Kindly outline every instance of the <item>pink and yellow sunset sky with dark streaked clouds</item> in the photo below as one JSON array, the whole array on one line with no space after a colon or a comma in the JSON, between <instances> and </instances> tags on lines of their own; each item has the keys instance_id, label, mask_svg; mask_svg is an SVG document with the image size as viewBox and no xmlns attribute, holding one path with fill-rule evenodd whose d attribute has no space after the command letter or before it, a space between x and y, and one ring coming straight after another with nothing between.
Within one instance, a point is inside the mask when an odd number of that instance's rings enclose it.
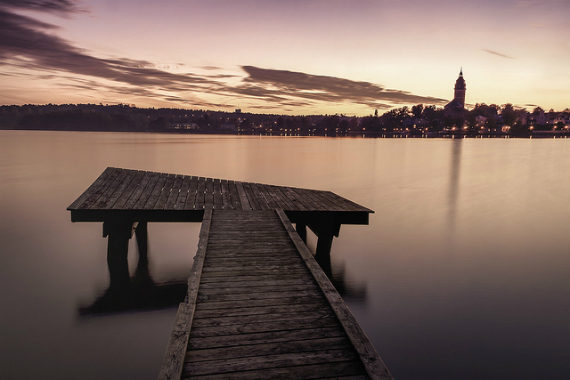
<instances>
[{"instance_id":1,"label":"pink and yellow sunset sky with dark streaked clouds","mask_svg":"<svg viewBox=\"0 0 570 380\"><path fill-rule=\"evenodd\" d=\"M570 1L0 0L0 104L570 107Z\"/></svg>"}]
</instances>

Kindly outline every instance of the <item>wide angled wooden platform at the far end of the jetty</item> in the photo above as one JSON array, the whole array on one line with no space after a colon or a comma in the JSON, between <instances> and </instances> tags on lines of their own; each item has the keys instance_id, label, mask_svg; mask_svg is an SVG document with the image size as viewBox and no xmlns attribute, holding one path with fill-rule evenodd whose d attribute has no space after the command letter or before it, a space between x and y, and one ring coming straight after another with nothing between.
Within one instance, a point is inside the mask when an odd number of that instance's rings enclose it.
<instances>
[{"instance_id":1,"label":"wide angled wooden platform at the far end of the jetty","mask_svg":"<svg viewBox=\"0 0 570 380\"><path fill-rule=\"evenodd\" d=\"M149 222L202 220L207 209L324 213L368 223L372 212L330 191L107 168L68 208L74 222L124 217Z\"/></svg>"}]
</instances>

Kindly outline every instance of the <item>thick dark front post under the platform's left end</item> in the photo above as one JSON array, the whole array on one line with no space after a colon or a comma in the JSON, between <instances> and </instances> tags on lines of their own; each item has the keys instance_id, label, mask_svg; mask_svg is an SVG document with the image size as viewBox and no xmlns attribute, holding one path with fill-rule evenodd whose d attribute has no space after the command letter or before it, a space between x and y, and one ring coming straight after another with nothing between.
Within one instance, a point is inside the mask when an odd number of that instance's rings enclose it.
<instances>
[{"instance_id":1,"label":"thick dark front post under the platform's left end","mask_svg":"<svg viewBox=\"0 0 570 380\"><path fill-rule=\"evenodd\" d=\"M136 224L135 224L136 226ZM133 234L133 222L108 220L103 222L103 237L107 242L107 265L109 267L110 290L126 289L129 285L129 239Z\"/></svg>"}]
</instances>

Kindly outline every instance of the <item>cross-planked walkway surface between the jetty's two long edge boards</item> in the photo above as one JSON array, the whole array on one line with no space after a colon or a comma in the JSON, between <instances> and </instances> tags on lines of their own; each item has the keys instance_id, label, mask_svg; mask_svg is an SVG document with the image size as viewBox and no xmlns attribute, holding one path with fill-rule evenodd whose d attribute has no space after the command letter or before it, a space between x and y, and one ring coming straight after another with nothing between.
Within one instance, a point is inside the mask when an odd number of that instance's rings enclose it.
<instances>
[{"instance_id":1,"label":"cross-planked walkway surface between the jetty's two long edge boards","mask_svg":"<svg viewBox=\"0 0 570 380\"><path fill-rule=\"evenodd\" d=\"M266 210L279 195L241 186L261 210L212 212L182 378L335 377L337 363L366 375L279 215Z\"/></svg>"}]
</instances>

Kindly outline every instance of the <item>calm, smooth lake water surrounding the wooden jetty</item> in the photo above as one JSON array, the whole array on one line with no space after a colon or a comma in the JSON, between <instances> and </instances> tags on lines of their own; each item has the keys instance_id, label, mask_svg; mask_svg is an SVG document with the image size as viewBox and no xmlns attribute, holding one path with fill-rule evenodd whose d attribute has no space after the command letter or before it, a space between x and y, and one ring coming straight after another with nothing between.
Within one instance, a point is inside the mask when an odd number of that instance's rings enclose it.
<instances>
[{"instance_id":1,"label":"calm, smooth lake water surrounding the wooden jetty","mask_svg":"<svg viewBox=\"0 0 570 380\"><path fill-rule=\"evenodd\" d=\"M108 286L106 239L65 209L107 166L331 190L375 210L342 226L333 274L398 379L570 378L568 140L0 131L2 379L158 373L174 307L80 313ZM198 230L149 225L155 282L185 281ZM134 241L129 258L134 271Z\"/></svg>"}]
</instances>

